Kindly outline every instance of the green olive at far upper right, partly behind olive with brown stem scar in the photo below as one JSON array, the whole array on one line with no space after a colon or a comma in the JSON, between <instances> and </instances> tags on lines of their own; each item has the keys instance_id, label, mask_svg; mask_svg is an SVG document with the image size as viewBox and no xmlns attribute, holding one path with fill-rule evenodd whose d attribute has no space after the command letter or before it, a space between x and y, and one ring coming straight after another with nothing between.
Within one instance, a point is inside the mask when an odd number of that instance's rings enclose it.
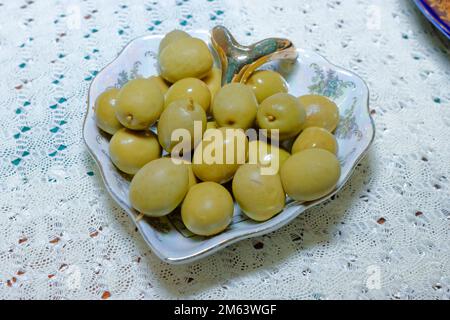
<instances>
[{"instance_id":1,"label":"green olive at far upper right, partly behind olive with brown stem scar","mask_svg":"<svg viewBox=\"0 0 450 320\"><path fill-rule=\"evenodd\" d=\"M306 95L298 98L306 111L303 129L320 127L333 132L339 123L339 109L333 101L324 96Z\"/></svg>"}]
</instances>

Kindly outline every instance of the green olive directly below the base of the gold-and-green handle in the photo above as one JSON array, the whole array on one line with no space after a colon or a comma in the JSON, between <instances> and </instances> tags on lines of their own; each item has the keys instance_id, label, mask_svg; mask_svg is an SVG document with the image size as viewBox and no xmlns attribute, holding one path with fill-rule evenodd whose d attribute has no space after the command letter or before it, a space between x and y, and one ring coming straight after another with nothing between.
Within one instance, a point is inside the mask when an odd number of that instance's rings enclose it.
<instances>
[{"instance_id":1,"label":"green olive directly below the base of the gold-and-green handle","mask_svg":"<svg viewBox=\"0 0 450 320\"><path fill-rule=\"evenodd\" d=\"M256 117L258 102L252 90L242 83L223 86L215 95L212 113L217 124L229 128L250 128Z\"/></svg>"}]
</instances>

